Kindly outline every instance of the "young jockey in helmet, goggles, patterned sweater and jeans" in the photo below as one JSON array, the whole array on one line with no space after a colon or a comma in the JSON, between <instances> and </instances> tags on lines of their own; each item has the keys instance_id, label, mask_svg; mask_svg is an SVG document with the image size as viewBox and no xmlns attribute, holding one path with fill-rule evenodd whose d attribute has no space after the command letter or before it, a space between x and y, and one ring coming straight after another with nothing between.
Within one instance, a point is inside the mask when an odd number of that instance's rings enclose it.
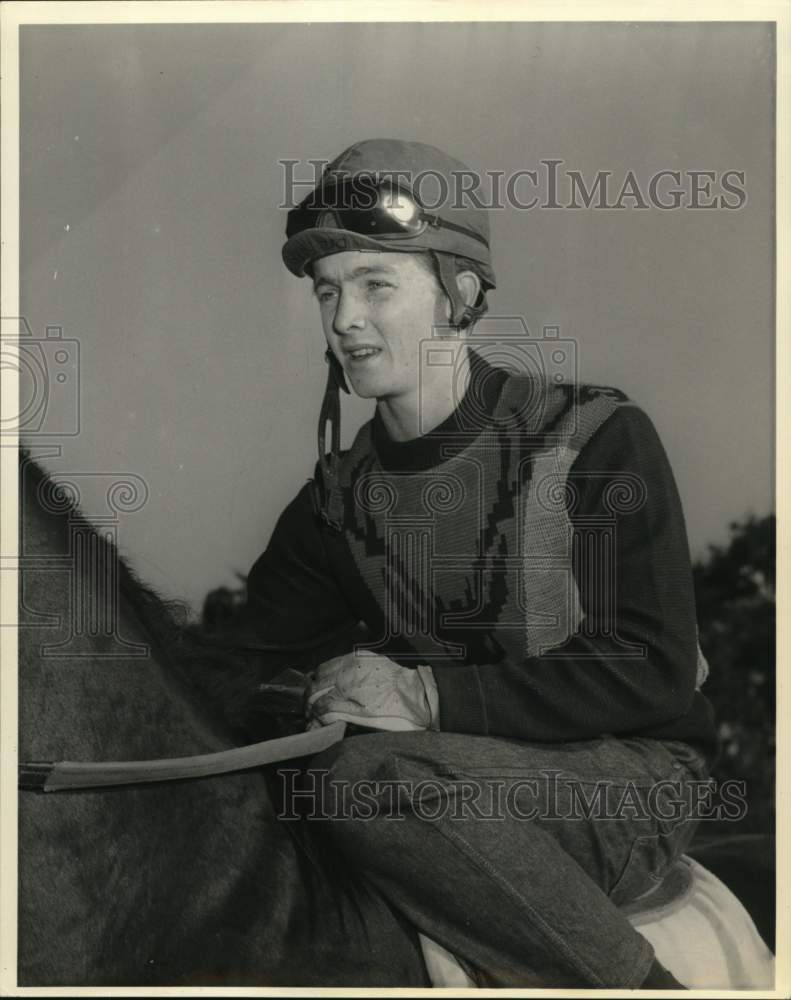
<instances>
[{"instance_id":1,"label":"young jockey in helmet, goggles, patterned sweater and jeans","mask_svg":"<svg viewBox=\"0 0 791 1000\"><path fill-rule=\"evenodd\" d=\"M715 753L680 500L648 417L560 341L476 333L470 174L368 140L289 213L328 383L248 608L270 643L364 624L310 676L308 724L356 727L311 761L320 829L479 985L681 988L621 909L688 846ZM376 410L341 453L350 388Z\"/></svg>"}]
</instances>

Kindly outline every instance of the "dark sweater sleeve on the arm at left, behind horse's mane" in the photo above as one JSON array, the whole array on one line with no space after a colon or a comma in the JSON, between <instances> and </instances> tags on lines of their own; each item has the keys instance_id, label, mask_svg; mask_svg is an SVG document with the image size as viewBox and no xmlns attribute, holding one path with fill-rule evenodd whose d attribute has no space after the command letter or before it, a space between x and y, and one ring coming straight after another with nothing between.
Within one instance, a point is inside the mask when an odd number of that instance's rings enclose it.
<instances>
[{"instance_id":1,"label":"dark sweater sleeve on the arm at left, behind horse's mane","mask_svg":"<svg viewBox=\"0 0 791 1000\"><path fill-rule=\"evenodd\" d=\"M357 622L327 559L310 490L306 483L280 515L247 578L248 628L261 644L295 652L331 642Z\"/></svg>"}]
</instances>

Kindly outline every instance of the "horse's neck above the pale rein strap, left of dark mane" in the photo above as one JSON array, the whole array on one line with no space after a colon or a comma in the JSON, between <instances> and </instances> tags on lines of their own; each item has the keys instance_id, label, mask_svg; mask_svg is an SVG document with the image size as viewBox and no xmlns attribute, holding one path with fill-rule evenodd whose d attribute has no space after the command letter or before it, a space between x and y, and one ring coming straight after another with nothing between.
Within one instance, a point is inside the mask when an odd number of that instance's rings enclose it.
<instances>
[{"instance_id":1,"label":"horse's neck above the pale rein strap, left of dark mane","mask_svg":"<svg viewBox=\"0 0 791 1000\"><path fill-rule=\"evenodd\" d=\"M42 510L23 471L22 757L130 760L227 746L143 620L150 609L161 632L164 606L142 587L135 593L115 547L75 512Z\"/></svg>"}]
</instances>

